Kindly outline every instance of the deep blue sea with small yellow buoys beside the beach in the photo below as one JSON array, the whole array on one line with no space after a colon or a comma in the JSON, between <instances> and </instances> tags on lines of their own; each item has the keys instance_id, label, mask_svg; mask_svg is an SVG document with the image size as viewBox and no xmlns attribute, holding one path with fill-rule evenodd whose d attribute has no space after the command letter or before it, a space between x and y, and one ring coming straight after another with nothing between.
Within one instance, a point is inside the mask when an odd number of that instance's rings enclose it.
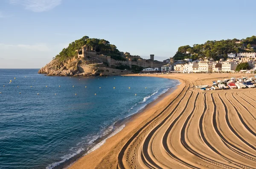
<instances>
[{"instance_id":1,"label":"deep blue sea with small yellow buoys beside the beach","mask_svg":"<svg viewBox=\"0 0 256 169\"><path fill-rule=\"evenodd\" d=\"M105 142L99 138L124 127L116 122L179 84L157 77L70 78L37 72L0 69L0 169L52 169L91 152Z\"/></svg>"}]
</instances>

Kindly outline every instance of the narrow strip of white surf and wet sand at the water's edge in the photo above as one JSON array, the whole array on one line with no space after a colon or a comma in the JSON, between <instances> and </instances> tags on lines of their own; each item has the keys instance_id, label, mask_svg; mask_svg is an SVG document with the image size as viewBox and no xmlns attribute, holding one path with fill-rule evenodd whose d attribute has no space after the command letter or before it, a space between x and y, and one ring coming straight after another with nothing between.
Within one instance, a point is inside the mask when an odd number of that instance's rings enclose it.
<instances>
[{"instance_id":1,"label":"narrow strip of white surf and wet sand at the water's edge","mask_svg":"<svg viewBox=\"0 0 256 169\"><path fill-rule=\"evenodd\" d=\"M128 74L128 76L132 76L132 75L134 75L134 74ZM169 79L169 78L167 78L167 79ZM180 84L181 84L180 81L177 80L176 86L170 87L166 92L158 95L154 100L152 100L151 102L146 104L145 107L139 109L134 114L128 115L127 117L120 119L120 120L116 121L115 123L113 123L113 129L111 131L108 131L107 134L104 135L103 137L97 138L94 141L95 144L93 144L93 146L90 146L90 148L88 150L82 150L77 155L74 155L72 158L70 158L62 163L59 163L57 166L52 167L52 169L63 169L63 168L68 169L70 166L72 166L74 163L76 163L80 158L83 158L84 156L96 151L97 149L100 149L109 138L114 137L117 133L121 132L126 127L126 125L128 123L130 123L132 120L136 119L137 115L143 113L145 109L149 109L148 107L153 107L154 105L159 103L161 100L163 100L167 95L172 94L172 92L174 92L175 89L177 89L177 86L179 86Z\"/></svg>"}]
</instances>

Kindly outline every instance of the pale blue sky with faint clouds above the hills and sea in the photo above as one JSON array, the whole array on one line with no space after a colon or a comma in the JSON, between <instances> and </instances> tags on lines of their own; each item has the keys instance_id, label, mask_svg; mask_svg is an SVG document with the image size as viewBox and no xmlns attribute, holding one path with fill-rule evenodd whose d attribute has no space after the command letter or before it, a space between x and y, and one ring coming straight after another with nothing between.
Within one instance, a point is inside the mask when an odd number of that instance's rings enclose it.
<instances>
[{"instance_id":1,"label":"pale blue sky with faint clouds above the hills and sea","mask_svg":"<svg viewBox=\"0 0 256 169\"><path fill-rule=\"evenodd\" d=\"M87 35L158 60L255 34L255 0L0 0L0 68L41 68Z\"/></svg>"}]
</instances>

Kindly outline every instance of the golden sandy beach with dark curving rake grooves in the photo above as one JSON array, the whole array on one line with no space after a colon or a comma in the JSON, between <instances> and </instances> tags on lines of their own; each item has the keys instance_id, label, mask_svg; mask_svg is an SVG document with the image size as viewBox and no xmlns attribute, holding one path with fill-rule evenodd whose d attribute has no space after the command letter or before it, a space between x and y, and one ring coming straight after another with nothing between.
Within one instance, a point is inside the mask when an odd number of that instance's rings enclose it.
<instances>
[{"instance_id":1,"label":"golden sandy beach with dark curving rake grooves","mask_svg":"<svg viewBox=\"0 0 256 169\"><path fill-rule=\"evenodd\" d=\"M256 89L195 89L241 75L140 75L181 84L69 168L255 169Z\"/></svg>"}]
</instances>

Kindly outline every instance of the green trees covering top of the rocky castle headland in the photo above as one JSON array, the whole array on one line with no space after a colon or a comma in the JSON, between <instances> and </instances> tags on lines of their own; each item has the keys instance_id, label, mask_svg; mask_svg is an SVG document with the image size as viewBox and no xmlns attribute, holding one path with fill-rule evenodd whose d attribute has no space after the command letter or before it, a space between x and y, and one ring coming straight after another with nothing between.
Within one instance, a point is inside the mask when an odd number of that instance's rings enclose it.
<instances>
[{"instance_id":1,"label":"green trees covering top of the rocky castle headland","mask_svg":"<svg viewBox=\"0 0 256 169\"><path fill-rule=\"evenodd\" d=\"M62 51L57 54L55 58L60 61L64 61L74 56L77 56L76 50L81 49L81 47L84 45L87 46L87 51L110 55L111 58L115 60L124 60L124 58L121 57L119 50L116 49L116 46L110 44L108 40L89 38L88 36L84 36L81 39L75 40L75 42L70 43L69 46L62 49Z\"/></svg>"}]
</instances>

